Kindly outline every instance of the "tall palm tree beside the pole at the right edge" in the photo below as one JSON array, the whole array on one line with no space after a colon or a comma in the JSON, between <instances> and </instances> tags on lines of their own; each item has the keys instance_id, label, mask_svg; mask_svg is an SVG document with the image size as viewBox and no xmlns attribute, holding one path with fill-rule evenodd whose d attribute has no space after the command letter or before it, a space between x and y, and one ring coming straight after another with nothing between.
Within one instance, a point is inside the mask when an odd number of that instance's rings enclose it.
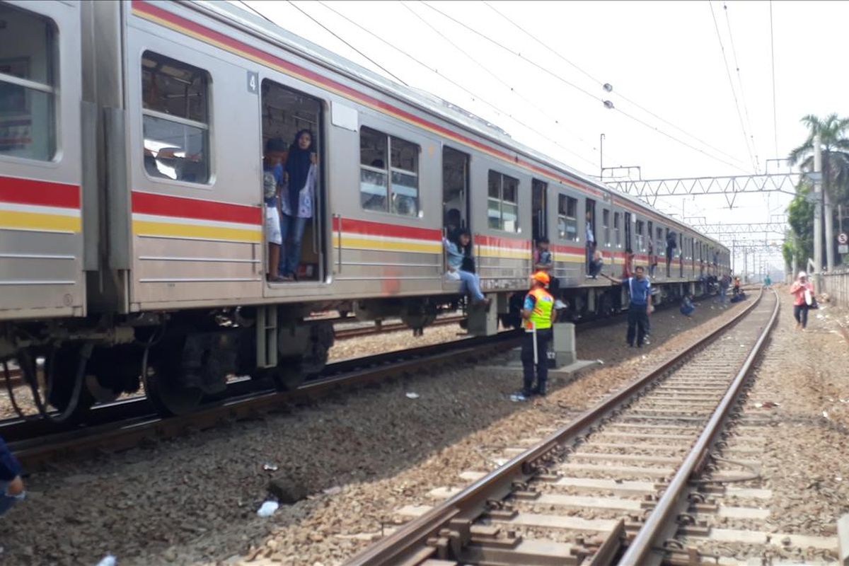
<instances>
[{"instance_id":1,"label":"tall palm tree beside the pole at the right edge","mask_svg":"<svg viewBox=\"0 0 849 566\"><path fill-rule=\"evenodd\" d=\"M801 119L807 126L808 136L805 143L790 152L790 165L799 165L803 171L813 170L813 139L819 134L823 155L823 192L825 193L825 241L829 264L834 253L832 233L832 203L849 203L849 118L840 118L836 114L828 115L824 120L809 114Z\"/></svg>"}]
</instances>

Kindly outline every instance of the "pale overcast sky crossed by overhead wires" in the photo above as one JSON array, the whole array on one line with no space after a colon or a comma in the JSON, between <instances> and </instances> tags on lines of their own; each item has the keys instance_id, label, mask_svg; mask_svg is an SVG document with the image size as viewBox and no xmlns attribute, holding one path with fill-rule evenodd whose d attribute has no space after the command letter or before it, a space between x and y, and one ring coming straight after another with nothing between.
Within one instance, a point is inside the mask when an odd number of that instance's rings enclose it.
<instances>
[{"instance_id":1,"label":"pale overcast sky crossed by overhead wires","mask_svg":"<svg viewBox=\"0 0 849 566\"><path fill-rule=\"evenodd\" d=\"M786 157L805 140L802 115L849 114L849 74L835 64L849 3L772 3L773 127L769 2L247 1L287 30L450 100L591 175L599 174L602 132L605 167L639 165L644 178L711 177L763 171L766 160ZM658 205L678 216L758 222L783 213L789 199L740 196L734 210L722 197Z\"/></svg>"}]
</instances>

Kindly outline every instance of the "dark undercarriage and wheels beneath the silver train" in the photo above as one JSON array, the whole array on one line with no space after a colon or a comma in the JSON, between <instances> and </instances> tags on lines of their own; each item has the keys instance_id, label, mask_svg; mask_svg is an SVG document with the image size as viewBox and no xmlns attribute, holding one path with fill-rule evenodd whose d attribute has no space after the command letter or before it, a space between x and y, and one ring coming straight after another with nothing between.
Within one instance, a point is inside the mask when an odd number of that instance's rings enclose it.
<instances>
[{"instance_id":1,"label":"dark undercarriage and wheels beneath the silver train","mask_svg":"<svg viewBox=\"0 0 849 566\"><path fill-rule=\"evenodd\" d=\"M657 289L655 304L678 300L685 292L698 296L707 291L702 283L668 283ZM502 328L520 327L523 296L502 293L494 301ZM565 303L561 320L573 322L609 317L627 305L618 286L564 289L559 298ZM15 404L9 367L17 366L37 406L36 417L57 423L84 422L96 403L142 390L161 415L185 414L224 399L228 380L235 376L290 390L321 373L334 345L334 319L312 317L309 309L333 309L361 321L400 318L419 333L439 314L464 309L464 300L356 300L145 313L120 322L4 323L0 378ZM465 312L463 326L469 332L481 328L473 320L481 313ZM20 416L33 418L24 412Z\"/></svg>"}]
</instances>

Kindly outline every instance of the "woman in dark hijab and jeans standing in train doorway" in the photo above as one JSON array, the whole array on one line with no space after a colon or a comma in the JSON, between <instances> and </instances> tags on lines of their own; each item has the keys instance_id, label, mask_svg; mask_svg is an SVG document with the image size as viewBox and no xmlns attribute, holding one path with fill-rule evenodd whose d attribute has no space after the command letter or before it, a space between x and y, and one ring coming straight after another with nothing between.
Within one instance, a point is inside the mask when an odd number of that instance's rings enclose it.
<instances>
[{"instance_id":1,"label":"woman in dark hijab and jeans standing in train doorway","mask_svg":"<svg viewBox=\"0 0 849 566\"><path fill-rule=\"evenodd\" d=\"M281 193L280 277L294 281L301 263L301 240L306 221L312 218L312 199L316 185L317 157L312 149L312 132L301 130L289 148L284 165L284 190Z\"/></svg>"}]
</instances>

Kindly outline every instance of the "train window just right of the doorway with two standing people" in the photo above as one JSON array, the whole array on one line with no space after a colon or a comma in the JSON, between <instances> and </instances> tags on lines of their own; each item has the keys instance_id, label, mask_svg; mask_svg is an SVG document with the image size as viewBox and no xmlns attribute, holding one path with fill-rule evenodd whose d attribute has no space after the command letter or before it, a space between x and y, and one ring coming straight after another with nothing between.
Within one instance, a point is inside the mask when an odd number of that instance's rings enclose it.
<instances>
[{"instance_id":1,"label":"train window just right of the doorway with two standing people","mask_svg":"<svg viewBox=\"0 0 849 566\"><path fill-rule=\"evenodd\" d=\"M363 126L360 204L363 210L419 216L419 146Z\"/></svg>"}]
</instances>

